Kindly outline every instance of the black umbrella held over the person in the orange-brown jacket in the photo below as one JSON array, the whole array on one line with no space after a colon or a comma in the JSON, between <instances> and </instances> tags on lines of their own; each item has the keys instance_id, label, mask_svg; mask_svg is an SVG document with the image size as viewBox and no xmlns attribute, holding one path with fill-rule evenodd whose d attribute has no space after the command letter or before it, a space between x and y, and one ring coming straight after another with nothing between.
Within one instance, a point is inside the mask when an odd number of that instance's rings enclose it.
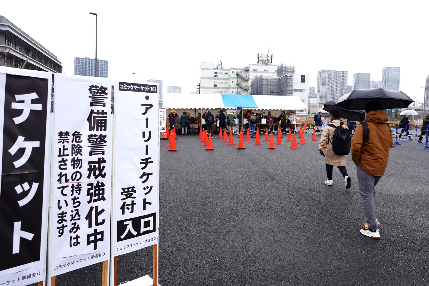
<instances>
[{"instance_id":1,"label":"black umbrella held over the person in the orange-brown jacket","mask_svg":"<svg viewBox=\"0 0 429 286\"><path fill-rule=\"evenodd\" d=\"M369 88L355 89L344 94L335 102L335 106L347 110L360 110L365 109L366 105L372 101L380 103L383 109L406 108L414 102L402 91Z\"/></svg>"}]
</instances>

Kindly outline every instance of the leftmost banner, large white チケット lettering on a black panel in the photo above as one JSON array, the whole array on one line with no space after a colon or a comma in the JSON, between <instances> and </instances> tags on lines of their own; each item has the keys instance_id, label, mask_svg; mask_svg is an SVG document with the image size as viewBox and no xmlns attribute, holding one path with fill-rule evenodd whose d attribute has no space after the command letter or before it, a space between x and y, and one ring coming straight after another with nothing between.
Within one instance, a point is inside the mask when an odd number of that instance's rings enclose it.
<instances>
[{"instance_id":1,"label":"leftmost banner, large white \u30c1\u30b1\u30c3\u30c8 lettering on a black panel","mask_svg":"<svg viewBox=\"0 0 429 286\"><path fill-rule=\"evenodd\" d=\"M0 66L0 285L45 281L51 80Z\"/></svg>"}]
</instances>

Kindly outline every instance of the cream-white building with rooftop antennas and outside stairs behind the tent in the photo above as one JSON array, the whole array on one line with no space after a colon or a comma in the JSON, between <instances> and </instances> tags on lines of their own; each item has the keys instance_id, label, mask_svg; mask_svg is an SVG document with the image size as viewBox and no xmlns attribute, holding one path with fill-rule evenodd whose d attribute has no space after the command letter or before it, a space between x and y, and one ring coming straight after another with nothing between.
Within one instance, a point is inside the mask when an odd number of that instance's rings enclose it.
<instances>
[{"instance_id":1,"label":"cream-white building with rooftop antennas and outside stairs behind the tent","mask_svg":"<svg viewBox=\"0 0 429 286\"><path fill-rule=\"evenodd\" d=\"M258 54L257 63L225 69L222 64L201 63L200 90L210 94L251 94L251 82L259 75L277 75L271 54Z\"/></svg>"}]
</instances>

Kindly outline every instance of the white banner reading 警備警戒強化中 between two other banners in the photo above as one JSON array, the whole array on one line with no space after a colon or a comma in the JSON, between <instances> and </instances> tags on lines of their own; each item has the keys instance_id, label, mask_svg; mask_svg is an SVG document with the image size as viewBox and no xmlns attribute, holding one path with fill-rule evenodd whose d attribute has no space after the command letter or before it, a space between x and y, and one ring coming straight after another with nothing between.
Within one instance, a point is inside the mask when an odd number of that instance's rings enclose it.
<instances>
[{"instance_id":1,"label":"white banner reading \u8b66\u5099\u8b66\u6212\u5f37\u5316\u4e2d between two other banners","mask_svg":"<svg viewBox=\"0 0 429 286\"><path fill-rule=\"evenodd\" d=\"M54 84L50 276L109 260L112 165L112 82L55 75Z\"/></svg>"}]
</instances>

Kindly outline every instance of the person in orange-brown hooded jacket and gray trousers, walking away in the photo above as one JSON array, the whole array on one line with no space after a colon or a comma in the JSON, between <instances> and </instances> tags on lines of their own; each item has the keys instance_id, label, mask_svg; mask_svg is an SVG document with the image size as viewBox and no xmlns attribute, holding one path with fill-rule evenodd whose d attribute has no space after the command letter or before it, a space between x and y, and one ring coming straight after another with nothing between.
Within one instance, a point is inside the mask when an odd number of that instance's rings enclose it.
<instances>
[{"instance_id":1,"label":"person in orange-brown hooded jacket and gray trousers, walking away","mask_svg":"<svg viewBox=\"0 0 429 286\"><path fill-rule=\"evenodd\" d=\"M380 223L375 215L375 186L384 175L392 134L386 124L387 116L378 102L366 105L365 122L357 126L351 141L351 159L356 164L360 195L365 211L363 235L380 238ZM369 132L369 130L371 132Z\"/></svg>"}]
</instances>

